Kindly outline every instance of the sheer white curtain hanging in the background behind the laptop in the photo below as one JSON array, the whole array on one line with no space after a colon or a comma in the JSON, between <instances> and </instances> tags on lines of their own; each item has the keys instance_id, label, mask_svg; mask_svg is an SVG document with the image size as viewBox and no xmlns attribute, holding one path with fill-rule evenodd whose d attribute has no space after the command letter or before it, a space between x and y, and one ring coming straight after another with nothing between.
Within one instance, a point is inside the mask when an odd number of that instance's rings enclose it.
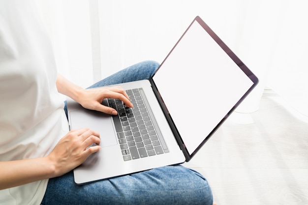
<instances>
[{"instance_id":1,"label":"sheer white curtain hanging in the background behind the laptop","mask_svg":"<svg viewBox=\"0 0 308 205\"><path fill-rule=\"evenodd\" d=\"M59 72L83 87L136 62L166 57L199 15L257 75L238 108L254 112L265 87L308 117L306 0L44 0Z\"/></svg>"}]
</instances>

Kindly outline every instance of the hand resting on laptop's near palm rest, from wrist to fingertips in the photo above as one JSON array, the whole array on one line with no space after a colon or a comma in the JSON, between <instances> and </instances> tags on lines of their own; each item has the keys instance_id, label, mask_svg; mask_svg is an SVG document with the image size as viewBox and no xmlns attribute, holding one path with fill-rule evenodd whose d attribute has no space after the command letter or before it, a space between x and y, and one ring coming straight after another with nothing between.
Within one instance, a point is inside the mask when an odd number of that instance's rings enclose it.
<instances>
[{"instance_id":1,"label":"hand resting on laptop's near palm rest, from wrist to fingertips","mask_svg":"<svg viewBox=\"0 0 308 205\"><path fill-rule=\"evenodd\" d=\"M61 176L81 165L92 153L100 150L99 143L99 134L88 128L68 132L47 156L54 167L54 175Z\"/></svg>"}]
</instances>

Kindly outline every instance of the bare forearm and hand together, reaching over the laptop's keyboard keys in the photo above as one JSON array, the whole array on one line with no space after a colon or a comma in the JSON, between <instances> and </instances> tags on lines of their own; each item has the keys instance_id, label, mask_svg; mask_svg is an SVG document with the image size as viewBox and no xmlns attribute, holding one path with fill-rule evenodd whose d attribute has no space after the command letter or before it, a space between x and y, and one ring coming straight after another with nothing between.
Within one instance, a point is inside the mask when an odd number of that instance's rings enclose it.
<instances>
[{"instance_id":1,"label":"bare forearm and hand together, reaching over the laptop's keyboard keys","mask_svg":"<svg viewBox=\"0 0 308 205\"><path fill-rule=\"evenodd\" d=\"M117 111L115 109L103 106L101 104L104 98L120 99L128 107L133 106L130 103L129 97L125 90L121 87L83 89L58 74L57 88L60 93L72 98L81 104L84 108L90 110L117 115Z\"/></svg>"}]
</instances>

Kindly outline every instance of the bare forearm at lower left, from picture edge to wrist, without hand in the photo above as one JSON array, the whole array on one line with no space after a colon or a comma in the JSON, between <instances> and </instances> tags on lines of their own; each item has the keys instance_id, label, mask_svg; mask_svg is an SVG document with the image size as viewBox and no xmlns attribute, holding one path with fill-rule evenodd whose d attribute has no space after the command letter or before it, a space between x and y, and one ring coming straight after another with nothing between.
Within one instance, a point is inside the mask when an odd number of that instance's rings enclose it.
<instances>
[{"instance_id":1,"label":"bare forearm at lower left, from picture edge to wrist, without hand","mask_svg":"<svg viewBox=\"0 0 308 205\"><path fill-rule=\"evenodd\" d=\"M0 162L0 190L56 176L47 157Z\"/></svg>"}]
</instances>

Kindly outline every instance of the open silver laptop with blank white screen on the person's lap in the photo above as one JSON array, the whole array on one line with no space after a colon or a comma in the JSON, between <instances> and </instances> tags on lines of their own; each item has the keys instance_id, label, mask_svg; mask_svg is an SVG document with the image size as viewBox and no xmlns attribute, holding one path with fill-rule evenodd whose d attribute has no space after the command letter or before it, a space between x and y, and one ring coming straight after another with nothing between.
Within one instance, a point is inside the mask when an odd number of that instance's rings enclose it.
<instances>
[{"instance_id":1,"label":"open silver laptop with blank white screen on the person's lap","mask_svg":"<svg viewBox=\"0 0 308 205\"><path fill-rule=\"evenodd\" d=\"M74 169L76 184L188 162L257 85L257 77L197 16L149 80L111 86L134 105L102 104L117 116L67 98L70 129L88 127L102 147Z\"/></svg>"}]
</instances>

